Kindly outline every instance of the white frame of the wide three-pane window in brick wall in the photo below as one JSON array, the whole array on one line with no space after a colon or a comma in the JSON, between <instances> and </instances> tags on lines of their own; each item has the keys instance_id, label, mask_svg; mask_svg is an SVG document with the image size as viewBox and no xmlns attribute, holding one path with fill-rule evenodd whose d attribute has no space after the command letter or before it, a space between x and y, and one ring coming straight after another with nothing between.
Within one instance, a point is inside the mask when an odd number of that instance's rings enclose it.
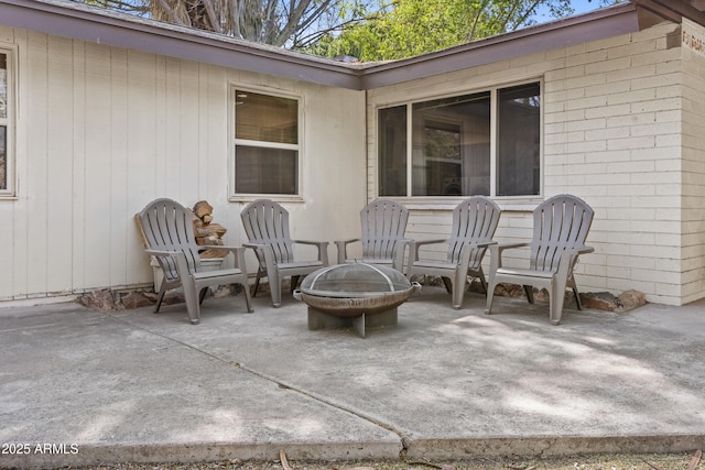
<instances>
[{"instance_id":1,"label":"white frame of the wide three-pane window in brick wall","mask_svg":"<svg viewBox=\"0 0 705 470\"><path fill-rule=\"evenodd\" d=\"M499 90L506 88L518 87L522 85L538 84L539 85L539 94L540 94L540 112L539 112L539 135L541 139L539 145L539 165L540 165L540 174L539 174L539 193L535 195L517 195L517 196L498 196L497 195L497 186L498 186L498 132L499 132ZM545 164L544 164L544 146L545 146L545 88L544 88L544 79L543 77L530 77L522 78L519 80L507 81L501 84L486 84L484 86L478 86L476 88L457 88L444 94L427 94L415 96L413 99L400 100L400 101L384 101L378 103L375 107L373 111L373 125L375 135L376 135L376 146L375 146L375 162L376 162L376 184L375 184L375 195L376 197L388 197L397 200L403 200L408 204L414 203L424 203L424 201L438 201L438 203L449 203L457 204L457 201L466 199L469 195L466 196L413 196L413 182L412 182L412 172L413 172L413 135L410 134L410 131L413 131L413 106L415 103L421 103L425 101L432 101L436 99L445 99L453 98L463 95L474 95L489 92L490 94L490 194L488 197L497 200L503 200L507 203L516 203L516 204L533 204L536 200L543 199L544 194L544 181L545 181ZM379 129L379 117L380 110L390 109L394 107L406 107L406 194L403 196L392 196L392 195L380 195L380 129Z\"/></svg>"}]
</instances>

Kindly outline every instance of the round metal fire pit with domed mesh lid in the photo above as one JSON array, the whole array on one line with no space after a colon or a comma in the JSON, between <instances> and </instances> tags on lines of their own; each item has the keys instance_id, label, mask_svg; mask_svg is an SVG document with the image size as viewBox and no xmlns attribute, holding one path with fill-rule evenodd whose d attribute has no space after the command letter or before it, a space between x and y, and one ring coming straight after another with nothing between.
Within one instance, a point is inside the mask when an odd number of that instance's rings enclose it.
<instances>
[{"instance_id":1,"label":"round metal fire pit with domed mesh lid","mask_svg":"<svg viewBox=\"0 0 705 470\"><path fill-rule=\"evenodd\" d=\"M308 274L294 297L308 305L308 329L397 325L397 307L421 288L399 271L367 263L336 264Z\"/></svg>"}]
</instances>

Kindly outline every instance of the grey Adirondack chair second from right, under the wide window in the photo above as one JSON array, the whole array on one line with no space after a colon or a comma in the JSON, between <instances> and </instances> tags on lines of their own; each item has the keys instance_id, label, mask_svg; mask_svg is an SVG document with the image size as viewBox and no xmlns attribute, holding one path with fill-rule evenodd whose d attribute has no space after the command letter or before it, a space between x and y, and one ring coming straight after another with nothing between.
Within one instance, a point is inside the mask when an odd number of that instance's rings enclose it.
<instances>
[{"instance_id":1,"label":"grey Adirondack chair second from right, under the wide window","mask_svg":"<svg viewBox=\"0 0 705 470\"><path fill-rule=\"evenodd\" d=\"M424 240L412 243L409 277L415 274L441 276L445 288L453 294L453 308L460 308L465 295L467 277L480 280L485 292L487 281L482 272L482 258L492 241L501 210L497 204L485 196L473 196L453 209L453 229L451 238ZM419 248L434 243L446 243L445 261L419 259Z\"/></svg>"}]
</instances>

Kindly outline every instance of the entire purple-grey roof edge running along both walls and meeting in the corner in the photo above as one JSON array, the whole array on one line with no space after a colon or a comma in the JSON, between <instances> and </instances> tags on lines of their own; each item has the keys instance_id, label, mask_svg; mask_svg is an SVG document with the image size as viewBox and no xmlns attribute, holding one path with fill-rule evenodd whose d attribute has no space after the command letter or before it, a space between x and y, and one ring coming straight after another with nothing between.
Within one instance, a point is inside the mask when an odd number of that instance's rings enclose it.
<instances>
[{"instance_id":1,"label":"entire purple-grey roof edge running along both walls and meeting in the corner","mask_svg":"<svg viewBox=\"0 0 705 470\"><path fill-rule=\"evenodd\" d=\"M67 0L0 0L0 24L366 90L636 32L638 4L643 1L631 0L415 57L368 64L341 63Z\"/></svg>"}]
</instances>

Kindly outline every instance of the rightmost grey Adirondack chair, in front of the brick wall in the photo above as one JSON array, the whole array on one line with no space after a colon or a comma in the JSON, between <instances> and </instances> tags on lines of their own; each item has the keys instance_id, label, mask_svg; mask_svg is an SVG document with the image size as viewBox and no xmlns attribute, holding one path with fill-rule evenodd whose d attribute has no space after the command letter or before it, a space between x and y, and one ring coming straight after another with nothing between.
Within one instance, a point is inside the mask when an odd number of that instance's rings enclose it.
<instances>
[{"instance_id":1,"label":"rightmost grey Adirondack chair, in front of the brick wall","mask_svg":"<svg viewBox=\"0 0 705 470\"><path fill-rule=\"evenodd\" d=\"M573 278L573 267L578 255L595 251L594 248L585 245L594 214L578 197L565 194L553 196L533 211L531 243L490 247L489 291L485 313L491 313L495 287L501 282L522 285L530 303L533 303L532 286L546 288L550 295L550 319L553 325L561 323L567 287L573 289L577 308L583 309ZM503 267L502 251L518 247L531 248L529 269Z\"/></svg>"}]
</instances>

